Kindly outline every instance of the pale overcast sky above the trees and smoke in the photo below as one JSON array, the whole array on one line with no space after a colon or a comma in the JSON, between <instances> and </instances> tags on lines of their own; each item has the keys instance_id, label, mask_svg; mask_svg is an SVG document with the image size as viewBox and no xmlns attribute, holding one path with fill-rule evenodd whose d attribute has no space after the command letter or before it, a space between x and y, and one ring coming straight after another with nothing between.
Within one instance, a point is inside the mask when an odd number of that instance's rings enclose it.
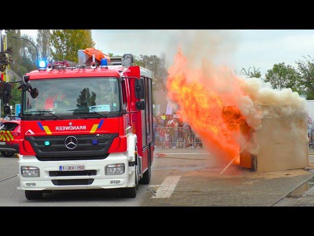
<instances>
[{"instance_id":1,"label":"pale overcast sky above the trees and smoke","mask_svg":"<svg viewBox=\"0 0 314 236\"><path fill-rule=\"evenodd\" d=\"M157 56L165 53L168 63L171 63L179 44L187 48L198 43L186 39L188 37L186 33L189 31L191 30L104 29L92 30L92 37L96 42L96 48L105 53ZM206 37L211 37L211 30L203 32ZM255 66L260 68L264 76L275 63L286 62L295 67L295 60L303 59L302 56L306 55L314 56L314 30L221 30L221 32L224 35L222 40L231 46L226 51L225 48L221 49L217 61L227 63L237 72L242 67ZM36 38L35 29L25 29L22 33ZM204 42L207 42L206 40Z\"/></svg>"}]
</instances>

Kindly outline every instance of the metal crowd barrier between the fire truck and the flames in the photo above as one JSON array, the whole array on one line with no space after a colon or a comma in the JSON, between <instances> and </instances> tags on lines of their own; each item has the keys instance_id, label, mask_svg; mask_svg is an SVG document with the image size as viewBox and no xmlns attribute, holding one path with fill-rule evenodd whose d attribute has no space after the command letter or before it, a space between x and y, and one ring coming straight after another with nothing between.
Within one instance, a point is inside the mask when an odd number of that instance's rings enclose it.
<instances>
[{"instance_id":1,"label":"metal crowd barrier between the fire truck and the flames","mask_svg":"<svg viewBox=\"0 0 314 236\"><path fill-rule=\"evenodd\" d=\"M156 127L155 143L157 148L202 148L200 137L183 127Z\"/></svg>"}]
</instances>

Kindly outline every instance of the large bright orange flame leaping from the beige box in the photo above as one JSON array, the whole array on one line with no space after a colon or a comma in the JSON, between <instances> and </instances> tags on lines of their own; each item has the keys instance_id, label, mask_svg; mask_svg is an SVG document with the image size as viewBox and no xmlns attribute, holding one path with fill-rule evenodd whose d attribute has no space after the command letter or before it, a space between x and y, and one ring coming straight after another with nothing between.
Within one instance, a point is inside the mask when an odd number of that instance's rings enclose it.
<instances>
[{"instance_id":1,"label":"large bright orange flame leaping from the beige box","mask_svg":"<svg viewBox=\"0 0 314 236\"><path fill-rule=\"evenodd\" d=\"M239 152L239 124L245 120L237 106L236 97L243 94L238 78L227 73L226 84L221 78L226 70L217 71L210 63L203 63L203 69L189 68L180 49L168 72L168 96L179 104L177 113L216 157L233 159Z\"/></svg>"}]
</instances>

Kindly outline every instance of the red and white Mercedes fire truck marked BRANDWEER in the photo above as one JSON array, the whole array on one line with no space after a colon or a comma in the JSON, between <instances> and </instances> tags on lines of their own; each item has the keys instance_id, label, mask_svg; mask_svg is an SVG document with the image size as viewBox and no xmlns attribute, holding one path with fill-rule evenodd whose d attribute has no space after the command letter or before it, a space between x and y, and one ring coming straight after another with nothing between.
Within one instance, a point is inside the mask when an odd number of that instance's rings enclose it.
<instances>
[{"instance_id":1,"label":"red and white Mercedes fire truck marked BRANDWEER","mask_svg":"<svg viewBox=\"0 0 314 236\"><path fill-rule=\"evenodd\" d=\"M131 54L109 58L90 48L78 51L75 67L40 61L38 70L24 75L18 188L27 199L102 188L134 198L138 183L149 184L152 73L132 63Z\"/></svg>"}]
</instances>

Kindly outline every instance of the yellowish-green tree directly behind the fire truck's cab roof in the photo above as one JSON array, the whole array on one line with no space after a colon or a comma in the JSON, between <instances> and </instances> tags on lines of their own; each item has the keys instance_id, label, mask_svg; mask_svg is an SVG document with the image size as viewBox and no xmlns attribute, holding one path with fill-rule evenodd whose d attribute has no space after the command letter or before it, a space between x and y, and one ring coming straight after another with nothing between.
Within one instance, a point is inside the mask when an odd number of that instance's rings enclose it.
<instances>
[{"instance_id":1,"label":"yellowish-green tree directly behind the fire truck's cab roof","mask_svg":"<svg viewBox=\"0 0 314 236\"><path fill-rule=\"evenodd\" d=\"M95 46L90 29L53 29L50 50L55 60L78 61L78 50Z\"/></svg>"}]
</instances>

